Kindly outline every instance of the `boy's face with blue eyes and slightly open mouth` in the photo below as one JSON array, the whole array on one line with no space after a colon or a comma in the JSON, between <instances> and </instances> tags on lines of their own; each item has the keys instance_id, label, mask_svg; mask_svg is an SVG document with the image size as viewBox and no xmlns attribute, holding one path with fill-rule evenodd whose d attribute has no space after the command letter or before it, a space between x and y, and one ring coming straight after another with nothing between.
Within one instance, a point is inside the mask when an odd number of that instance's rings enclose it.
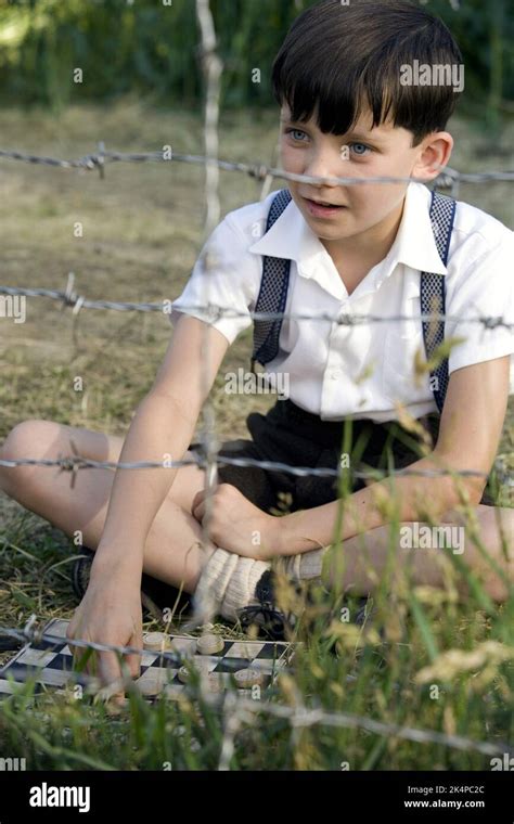
<instances>
[{"instance_id":1,"label":"boy's face with blue eyes and slightly open mouth","mask_svg":"<svg viewBox=\"0 0 514 824\"><path fill-rule=\"evenodd\" d=\"M369 111L345 136L323 134L314 119L290 120L287 105L281 110L281 159L284 171L312 177L416 177L432 180L438 165L451 153L448 132L436 132L412 147L412 133L390 123L371 129ZM334 185L287 181L292 197L305 220L333 255L348 250L372 255L395 232L401 217L408 182ZM336 204L323 208L312 204Z\"/></svg>"}]
</instances>

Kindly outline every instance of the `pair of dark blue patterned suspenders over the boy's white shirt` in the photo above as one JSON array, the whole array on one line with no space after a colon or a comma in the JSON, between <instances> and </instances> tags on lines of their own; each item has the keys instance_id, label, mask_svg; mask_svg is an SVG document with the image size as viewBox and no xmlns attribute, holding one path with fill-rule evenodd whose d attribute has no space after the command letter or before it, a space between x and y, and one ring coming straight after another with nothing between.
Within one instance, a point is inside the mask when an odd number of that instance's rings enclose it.
<instances>
[{"instance_id":1,"label":"pair of dark blue patterned suspenders over the boy's white shirt","mask_svg":"<svg viewBox=\"0 0 514 824\"><path fill-rule=\"evenodd\" d=\"M271 203L268 213L266 231L271 229L275 220L282 215L291 202L291 192L281 189ZM450 248L451 231L455 216L457 203L452 197L432 192L431 223L437 250L442 262L447 263ZM290 283L291 260L284 258L265 257L262 261L262 279L255 306L256 312L283 312L287 299ZM421 312L422 314L445 313L445 276L431 272L421 273ZM255 371L255 362L266 365L279 353L279 338L282 326L282 318L277 320L254 320L254 349L252 355L252 371ZM445 339L445 322L422 322L423 338L427 360L431 359L435 349ZM445 358L439 365L431 372L431 386L439 413L442 412L446 392L448 389L448 359Z\"/></svg>"}]
</instances>

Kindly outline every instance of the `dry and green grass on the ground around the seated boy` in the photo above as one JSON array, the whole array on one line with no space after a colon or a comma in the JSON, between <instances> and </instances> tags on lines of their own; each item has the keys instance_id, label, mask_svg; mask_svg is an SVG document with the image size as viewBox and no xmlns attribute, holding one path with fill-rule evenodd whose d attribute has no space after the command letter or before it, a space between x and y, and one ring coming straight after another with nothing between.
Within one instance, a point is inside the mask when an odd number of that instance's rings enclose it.
<instances>
[{"instance_id":1,"label":"dry and green grass on the ground around the seated boy","mask_svg":"<svg viewBox=\"0 0 514 824\"><path fill-rule=\"evenodd\" d=\"M457 120L452 165L507 167L513 131L512 125L505 129L491 154L478 129ZM153 112L131 100L110 110L73 108L60 119L38 111L2 116L5 147L76 157L91 152L97 140L121 151L154 151L169 142L177 152L203 151L195 115ZM220 155L270 162L274 140L274 113L231 115L222 123ZM7 162L1 170L4 283L63 288L73 271L77 292L88 297L159 301L180 293L202 243L200 168L177 164L163 173L152 165L113 165L104 181ZM505 186L464 186L460 197L512 226ZM259 194L255 181L222 172L223 214ZM77 220L83 224L80 240L73 235ZM69 312L35 298L23 329L4 322L2 332L0 438L29 417L124 435L154 379L170 329L159 316L82 311L74 334ZM249 347L249 334L235 342L211 392L221 439L247 436L246 414L270 405L266 396L241 395L234 401L222 391L222 374L247 366ZM77 375L82 392L73 389ZM513 421L511 404L499 450L507 467ZM503 489L501 500L512 504L509 492ZM22 627L33 613L42 622L69 617L76 607L68 580L73 554L63 532L2 495L0 626ZM512 738L513 601L497 607L478 584L459 602L452 562L453 556L445 591L406 581L393 594L385 577L374 600L376 614L362 630L338 619L340 604L331 596L335 618L321 615L308 639L301 635L308 643L294 677L282 679L270 696L272 706L365 717L388 733L359 724L292 726L284 718L254 712L234 733L230 768L490 769L490 755L408 741L397 729L465 736L501 751ZM9 657L3 654L0 661ZM131 694L129 709L112 718L88 700L35 698L28 684L0 707L0 752L26 758L29 769L217 769L228 714L203 700L149 706Z\"/></svg>"}]
</instances>

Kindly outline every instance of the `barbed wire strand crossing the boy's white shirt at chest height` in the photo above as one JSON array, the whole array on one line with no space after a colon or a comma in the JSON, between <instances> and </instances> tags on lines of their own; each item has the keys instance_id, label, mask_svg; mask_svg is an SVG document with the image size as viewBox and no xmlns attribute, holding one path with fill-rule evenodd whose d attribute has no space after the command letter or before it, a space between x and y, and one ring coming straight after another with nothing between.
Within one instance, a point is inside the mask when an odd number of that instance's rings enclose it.
<instances>
[{"instance_id":1,"label":"barbed wire strand crossing the boy's white shirt at chest height","mask_svg":"<svg viewBox=\"0 0 514 824\"><path fill-rule=\"evenodd\" d=\"M172 310L174 301L163 300L159 304L156 302L132 302L126 300L93 300L83 297L83 295L77 295L73 292L73 283L75 275L73 272L68 274L68 281L66 288L61 289L48 289L48 288L33 288L25 286L0 286L0 295L18 296L18 297L46 297L51 300L57 300L64 307L73 307L73 313L78 314L82 309L112 309L114 311L127 312L159 312L163 314L170 314ZM506 329L514 331L514 322L509 322L503 316L473 316L470 318L463 318L459 314L446 314L440 312L420 312L417 314L355 314L349 312L339 312L337 316L330 314L329 312L318 312L312 314L310 312L255 312L250 309L243 312L234 309L230 306L221 306L220 304L183 304L178 308L178 311L184 312L207 312L209 320L217 321L222 318L250 318L252 320L294 320L294 321L323 321L329 323L336 323L339 326L358 326L365 323L397 323L404 321L450 321L453 323L477 323L488 330L493 329Z\"/></svg>"}]
</instances>

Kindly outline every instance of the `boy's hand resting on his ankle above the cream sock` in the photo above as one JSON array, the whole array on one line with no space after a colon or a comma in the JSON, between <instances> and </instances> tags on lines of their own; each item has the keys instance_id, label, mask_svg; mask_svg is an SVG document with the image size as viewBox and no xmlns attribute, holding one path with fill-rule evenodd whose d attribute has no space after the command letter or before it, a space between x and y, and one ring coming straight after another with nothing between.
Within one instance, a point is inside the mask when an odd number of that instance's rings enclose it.
<instances>
[{"instance_id":1,"label":"boy's hand resting on his ankle above the cream sock","mask_svg":"<svg viewBox=\"0 0 514 824\"><path fill-rule=\"evenodd\" d=\"M207 490L193 499L191 511L201 524L206 513ZM267 561L278 554L278 522L255 506L232 484L220 484L211 493L209 538L218 546L244 557Z\"/></svg>"}]
</instances>

